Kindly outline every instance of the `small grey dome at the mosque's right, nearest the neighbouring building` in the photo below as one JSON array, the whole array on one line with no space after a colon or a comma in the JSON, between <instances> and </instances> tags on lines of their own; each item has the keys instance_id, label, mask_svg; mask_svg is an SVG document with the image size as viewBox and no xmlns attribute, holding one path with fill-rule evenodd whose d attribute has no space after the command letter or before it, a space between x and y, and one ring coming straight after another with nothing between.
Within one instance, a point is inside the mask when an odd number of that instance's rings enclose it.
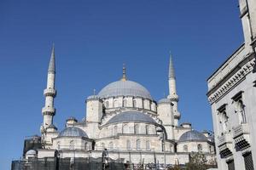
<instances>
[{"instance_id":1,"label":"small grey dome at the mosque's right, nearest the neighbouring building","mask_svg":"<svg viewBox=\"0 0 256 170\"><path fill-rule=\"evenodd\" d=\"M183 133L178 139L178 142L186 141L207 141L207 137L196 130L191 130L189 132Z\"/></svg>"}]
</instances>

